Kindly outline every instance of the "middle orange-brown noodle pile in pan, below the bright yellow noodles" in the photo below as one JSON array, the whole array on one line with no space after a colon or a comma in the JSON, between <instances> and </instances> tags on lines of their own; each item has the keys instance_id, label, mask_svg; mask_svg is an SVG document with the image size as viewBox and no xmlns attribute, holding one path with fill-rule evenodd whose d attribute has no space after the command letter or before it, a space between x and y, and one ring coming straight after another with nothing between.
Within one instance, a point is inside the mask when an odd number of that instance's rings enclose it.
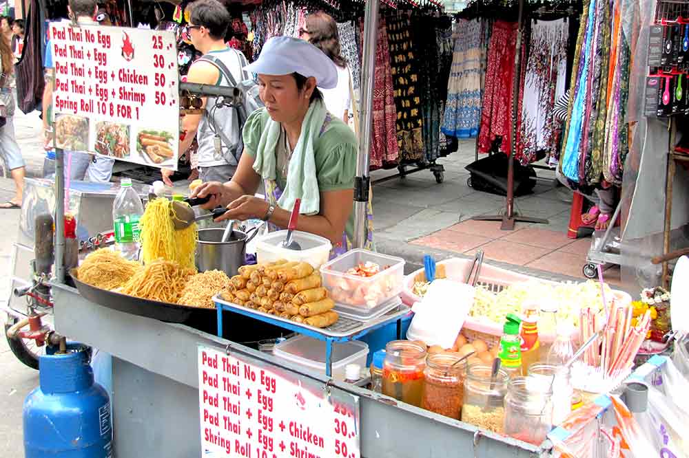
<instances>
[{"instance_id":1,"label":"middle orange-brown noodle pile in pan, below the bright yellow noodles","mask_svg":"<svg viewBox=\"0 0 689 458\"><path fill-rule=\"evenodd\" d=\"M120 292L151 301L176 304L189 276L195 272L181 268L175 262L157 259L136 272Z\"/></svg>"}]
</instances>

